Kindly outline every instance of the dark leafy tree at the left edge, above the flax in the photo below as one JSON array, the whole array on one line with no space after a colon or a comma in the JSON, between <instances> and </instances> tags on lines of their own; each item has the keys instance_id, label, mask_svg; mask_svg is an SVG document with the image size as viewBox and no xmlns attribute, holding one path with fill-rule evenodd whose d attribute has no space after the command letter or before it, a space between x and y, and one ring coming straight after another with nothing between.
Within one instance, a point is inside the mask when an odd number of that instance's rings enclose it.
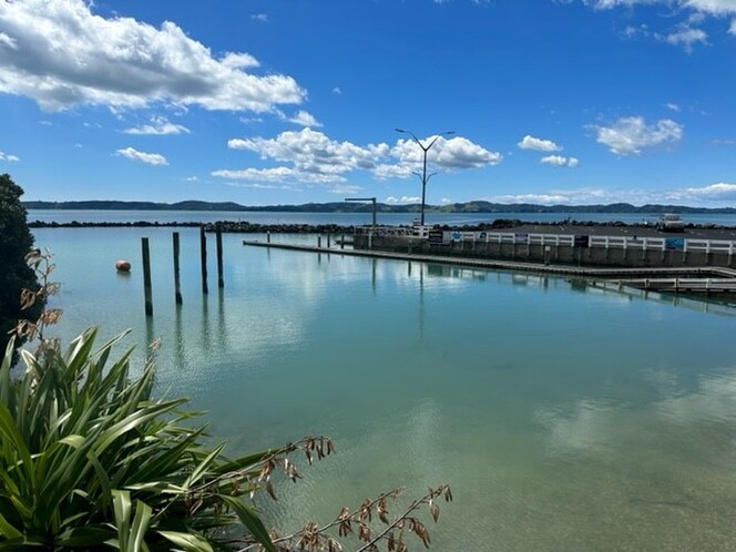
<instances>
[{"instance_id":1,"label":"dark leafy tree at the left edge, above the flax","mask_svg":"<svg viewBox=\"0 0 736 552\"><path fill-rule=\"evenodd\" d=\"M37 319L41 303L21 313L21 292L35 290L39 283L25 255L33 247L33 236L28 229L25 207L20 202L23 188L10 175L0 175L0 350L6 350L11 331L20 318ZM22 339L16 341L22 345Z\"/></svg>"}]
</instances>

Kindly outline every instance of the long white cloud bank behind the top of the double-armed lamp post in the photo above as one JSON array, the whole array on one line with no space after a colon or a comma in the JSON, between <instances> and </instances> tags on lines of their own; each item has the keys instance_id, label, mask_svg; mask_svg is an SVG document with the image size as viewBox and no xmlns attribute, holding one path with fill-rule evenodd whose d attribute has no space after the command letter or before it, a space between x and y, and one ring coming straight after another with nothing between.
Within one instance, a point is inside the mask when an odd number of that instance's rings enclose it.
<instances>
[{"instance_id":1,"label":"long white cloud bank behind the top of the double-armed lamp post","mask_svg":"<svg viewBox=\"0 0 736 552\"><path fill-rule=\"evenodd\" d=\"M430 136L426 141L436 137ZM385 143L357 145L331 140L309 127L283 132L274 139L233 139L227 145L233 150L256 153L263 161L282 163L276 167L222 168L212 173L237 180L328 184L346 182L346 175L352 171L368 171L377 178L406 178L417 172L423 162L423 152L413 141L399 140L393 147ZM494 165L501 159L501 154L463 137L437 137L428 155L433 171Z\"/></svg>"}]
</instances>

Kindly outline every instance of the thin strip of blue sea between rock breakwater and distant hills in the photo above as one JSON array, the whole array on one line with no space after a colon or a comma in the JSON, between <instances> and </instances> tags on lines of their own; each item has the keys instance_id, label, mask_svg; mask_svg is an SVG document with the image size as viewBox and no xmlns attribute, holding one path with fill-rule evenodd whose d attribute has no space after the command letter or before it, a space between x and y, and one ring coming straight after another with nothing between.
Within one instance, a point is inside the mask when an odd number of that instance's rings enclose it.
<instances>
[{"instance_id":1,"label":"thin strip of blue sea between rock breakwater and distant hills","mask_svg":"<svg viewBox=\"0 0 736 552\"><path fill-rule=\"evenodd\" d=\"M627 224L654 223L657 215L632 213L574 213L575 221L606 223L620 221ZM382 225L409 225L417 217L412 213L379 213L377 222ZM563 221L566 213L427 213L427 224L480 224L492 223L497 218L518 218L530 223L552 223ZM254 224L340 224L364 225L371 223L370 213L258 213L258 212L211 212L211 211L47 211L31 209L29 221L70 223L82 222L203 222L247 221ZM718 224L736 226L736 215L688 214L683 215L686 223Z\"/></svg>"}]
</instances>

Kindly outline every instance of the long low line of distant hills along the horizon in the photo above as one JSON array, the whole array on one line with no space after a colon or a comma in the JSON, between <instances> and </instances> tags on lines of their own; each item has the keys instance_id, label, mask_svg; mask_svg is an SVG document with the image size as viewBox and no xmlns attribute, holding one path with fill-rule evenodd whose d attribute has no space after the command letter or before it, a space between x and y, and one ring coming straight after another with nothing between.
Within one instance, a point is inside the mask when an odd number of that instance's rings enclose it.
<instances>
[{"instance_id":1,"label":"long low line of distant hills along the horizon","mask_svg":"<svg viewBox=\"0 0 736 552\"><path fill-rule=\"evenodd\" d=\"M262 212L262 213L370 213L372 206L367 203L304 203L300 205L268 205L246 206L234 202L203 202L185 201L177 203L156 202L121 202L121 201L80 201L80 202L23 202L28 209L59 209L59 211L231 211L231 212ZM419 213L419 204L390 205L377 203L378 213ZM474 201L466 203L450 203L446 205L426 205L426 213L712 213L734 215L736 207L685 207L682 205L647 204L641 207L628 203L612 203L609 205L535 205L532 203L491 203Z\"/></svg>"}]
</instances>

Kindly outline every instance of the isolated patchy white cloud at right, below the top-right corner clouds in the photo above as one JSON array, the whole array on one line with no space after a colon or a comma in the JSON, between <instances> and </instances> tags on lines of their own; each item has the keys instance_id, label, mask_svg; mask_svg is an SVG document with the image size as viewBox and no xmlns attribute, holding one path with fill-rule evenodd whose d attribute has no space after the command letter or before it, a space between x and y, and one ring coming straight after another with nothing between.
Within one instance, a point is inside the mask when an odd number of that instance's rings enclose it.
<instances>
[{"instance_id":1,"label":"isolated patchy white cloud at right, below the top-right corner clouds","mask_svg":"<svg viewBox=\"0 0 736 552\"><path fill-rule=\"evenodd\" d=\"M683 126L669 119L662 119L654 125L646 125L644 117L622 117L611 126L593 126L596 141L609 146L616 155L642 153L642 149L665 142L676 142L683 137Z\"/></svg>"}]
</instances>

